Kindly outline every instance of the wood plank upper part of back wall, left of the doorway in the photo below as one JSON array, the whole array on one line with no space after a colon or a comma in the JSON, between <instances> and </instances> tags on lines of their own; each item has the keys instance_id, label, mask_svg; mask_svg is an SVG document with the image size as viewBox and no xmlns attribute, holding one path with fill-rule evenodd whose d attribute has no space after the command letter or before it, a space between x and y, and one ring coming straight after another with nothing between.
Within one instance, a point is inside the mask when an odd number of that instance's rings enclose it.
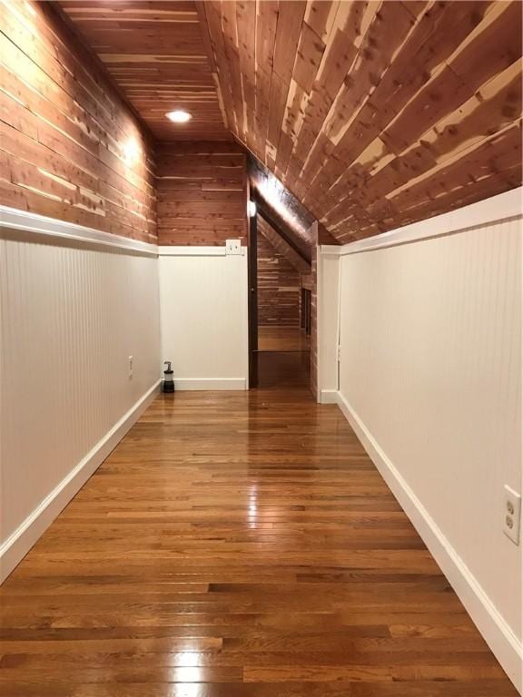
<instances>
[{"instance_id":1,"label":"wood plank upper part of back wall, left of the doorway","mask_svg":"<svg viewBox=\"0 0 523 697\"><path fill-rule=\"evenodd\" d=\"M159 244L247 244L246 155L239 145L163 143L156 161Z\"/></svg>"}]
</instances>

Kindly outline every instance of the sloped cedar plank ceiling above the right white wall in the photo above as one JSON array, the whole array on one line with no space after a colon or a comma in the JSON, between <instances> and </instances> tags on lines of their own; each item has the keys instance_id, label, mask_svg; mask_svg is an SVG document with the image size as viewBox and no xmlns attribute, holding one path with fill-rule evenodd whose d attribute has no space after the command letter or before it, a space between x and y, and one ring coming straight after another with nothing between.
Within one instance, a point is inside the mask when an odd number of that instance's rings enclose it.
<instances>
[{"instance_id":1,"label":"sloped cedar plank ceiling above the right white wall","mask_svg":"<svg viewBox=\"0 0 523 697\"><path fill-rule=\"evenodd\" d=\"M204 10L232 132L345 242L521 182L521 6Z\"/></svg>"}]
</instances>

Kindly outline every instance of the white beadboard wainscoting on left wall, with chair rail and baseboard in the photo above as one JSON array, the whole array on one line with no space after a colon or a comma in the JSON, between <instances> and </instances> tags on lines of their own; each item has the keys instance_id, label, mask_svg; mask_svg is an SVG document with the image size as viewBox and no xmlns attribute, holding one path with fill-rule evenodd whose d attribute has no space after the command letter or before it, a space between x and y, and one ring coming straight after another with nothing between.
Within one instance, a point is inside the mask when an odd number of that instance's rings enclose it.
<instances>
[{"instance_id":1,"label":"white beadboard wainscoting on left wall, with chair rail and baseboard","mask_svg":"<svg viewBox=\"0 0 523 697\"><path fill-rule=\"evenodd\" d=\"M25 213L14 222L8 212L0 211L2 579L147 407L160 377L156 248L60 221L35 230L50 219Z\"/></svg>"}]
</instances>

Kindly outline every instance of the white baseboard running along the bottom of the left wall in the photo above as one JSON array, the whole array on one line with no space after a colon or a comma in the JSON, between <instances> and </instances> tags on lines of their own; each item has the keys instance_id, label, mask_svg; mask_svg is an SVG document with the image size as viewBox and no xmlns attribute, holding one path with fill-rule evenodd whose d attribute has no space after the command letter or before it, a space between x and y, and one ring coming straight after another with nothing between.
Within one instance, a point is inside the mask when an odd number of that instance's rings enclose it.
<instances>
[{"instance_id":1,"label":"white baseboard running along the bottom of the left wall","mask_svg":"<svg viewBox=\"0 0 523 697\"><path fill-rule=\"evenodd\" d=\"M78 490L94 471L104 462L111 451L122 440L123 436L141 417L143 412L158 394L160 380L140 398L123 417L114 424L105 436L98 441L94 448L87 453L83 460L64 477L58 486L44 498L44 501L35 508L31 515L25 518L22 525L16 528L0 546L0 583L15 569L41 537L54 518L71 501Z\"/></svg>"}]
</instances>

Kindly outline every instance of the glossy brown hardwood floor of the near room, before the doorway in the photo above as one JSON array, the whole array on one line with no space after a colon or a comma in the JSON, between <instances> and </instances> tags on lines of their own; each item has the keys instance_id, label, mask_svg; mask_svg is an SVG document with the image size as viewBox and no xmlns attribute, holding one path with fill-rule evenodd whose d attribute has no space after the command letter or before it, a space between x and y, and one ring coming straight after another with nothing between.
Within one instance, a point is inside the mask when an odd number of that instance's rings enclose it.
<instances>
[{"instance_id":1,"label":"glossy brown hardwood floor of the near room, before the doorway","mask_svg":"<svg viewBox=\"0 0 523 697\"><path fill-rule=\"evenodd\" d=\"M2 697L512 697L338 407L156 399L5 582Z\"/></svg>"}]
</instances>

